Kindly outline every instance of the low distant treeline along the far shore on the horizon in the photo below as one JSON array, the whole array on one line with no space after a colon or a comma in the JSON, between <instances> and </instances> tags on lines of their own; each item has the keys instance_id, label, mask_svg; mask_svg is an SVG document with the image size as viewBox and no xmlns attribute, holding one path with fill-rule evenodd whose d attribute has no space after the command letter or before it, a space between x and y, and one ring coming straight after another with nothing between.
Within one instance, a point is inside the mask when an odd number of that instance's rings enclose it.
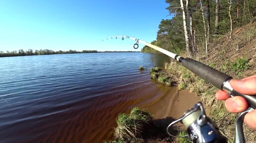
<instances>
[{"instance_id":1,"label":"low distant treeline along the far shore on the horizon","mask_svg":"<svg viewBox=\"0 0 256 143\"><path fill-rule=\"evenodd\" d=\"M134 52L134 51L104 51L104 52ZM14 50L14 51L0 51L0 57L14 57L14 56L32 56L32 55L52 55L52 54L73 54L73 53L99 53L97 50L82 50L82 51L76 51L76 50L69 50L69 51L53 51L53 50L32 50L28 49L27 51L20 49L20 50Z\"/></svg>"}]
</instances>

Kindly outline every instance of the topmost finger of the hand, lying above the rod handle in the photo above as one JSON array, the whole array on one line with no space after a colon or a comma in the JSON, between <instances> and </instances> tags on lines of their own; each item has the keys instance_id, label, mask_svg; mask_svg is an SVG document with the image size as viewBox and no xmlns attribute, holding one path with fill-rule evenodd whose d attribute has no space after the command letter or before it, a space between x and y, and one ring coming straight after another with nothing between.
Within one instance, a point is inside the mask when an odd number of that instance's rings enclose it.
<instances>
[{"instance_id":1,"label":"topmost finger of the hand, lying above the rod handle","mask_svg":"<svg viewBox=\"0 0 256 143\"><path fill-rule=\"evenodd\" d=\"M231 79L230 85L237 92L246 95L254 95L256 94L256 77L249 78L246 80L236 80Z\"/></svg>"}]
</instances>

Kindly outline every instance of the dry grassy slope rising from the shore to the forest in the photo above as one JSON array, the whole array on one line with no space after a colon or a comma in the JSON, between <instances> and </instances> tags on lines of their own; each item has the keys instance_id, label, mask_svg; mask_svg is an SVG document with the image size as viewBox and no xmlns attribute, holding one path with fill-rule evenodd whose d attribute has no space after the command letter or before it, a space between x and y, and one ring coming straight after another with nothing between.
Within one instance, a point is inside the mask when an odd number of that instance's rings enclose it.
<instances>
[{"instance_id":1,"label":"dry grassy slope rising from the shore to the forest","mask_svg":"<svg viewBox=\"0 0 256 143\"><path fill-rule=\"evenodd\" d=\"M235 29L233 39L227 38L228 35L216 38L208 48L209 57L200 57L199 61L238 79L256 74L256 21L252 25L249 42L250 27L249 24ZM211 109L213 121L232 143L235 133L234 121L238 114L228 113L224 102L215 99L217 88L176 62L166 64L165 68L171 74L180 76L179 89L189 89L201 97ZM249 127L245 127L244 130L247 143L256 143L256 131Z\"/></svg>"}]
</instances>

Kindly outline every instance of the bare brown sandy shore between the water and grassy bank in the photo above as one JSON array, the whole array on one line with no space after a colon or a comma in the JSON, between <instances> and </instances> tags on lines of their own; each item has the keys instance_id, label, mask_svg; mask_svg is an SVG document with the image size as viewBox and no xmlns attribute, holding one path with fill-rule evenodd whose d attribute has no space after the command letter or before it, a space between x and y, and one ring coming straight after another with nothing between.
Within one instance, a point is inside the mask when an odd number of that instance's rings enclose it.
<instances>
[{"instance_id":1,"label":"bare brown sandy shore between the water and grassy bank","mask_svg":"<svg viewBox=\"0 0 256 143\"><path fill-rule=\"evenodd\" d=\"M162 84L159 84L159 86L160 90L161 87L166 87ZM157 134L156 136L152 136L152 139L147 139L147 141L149 141L150 143L170 143L170 139L171 141L175 142L176 139L170 138L167 135L167 126L174 120L180 118L186 110L192 108L194 104L200 101L200 97L196 96L195 93L189 92L187 89L178 90L177 86L168 88L170 88L170 90L165 92L163 96L161 96L157 101L144 105L134 106L138 107L141 110L149 112L153 117L153 121L158 127L155 128L155 130L159 134ZM174 135L176 135L178 131L186 130L185 127L181 127L181 125L182 124L179 123L177 128L173 130ZM114 139L114 134L110 132L108 132L107 134L109 138L102 139L102 141L109 140L110 142L105 141L104 143L116 143L112 142ZM107 136L105 135L105 137Z\"/></svg>"}]
</instances>

